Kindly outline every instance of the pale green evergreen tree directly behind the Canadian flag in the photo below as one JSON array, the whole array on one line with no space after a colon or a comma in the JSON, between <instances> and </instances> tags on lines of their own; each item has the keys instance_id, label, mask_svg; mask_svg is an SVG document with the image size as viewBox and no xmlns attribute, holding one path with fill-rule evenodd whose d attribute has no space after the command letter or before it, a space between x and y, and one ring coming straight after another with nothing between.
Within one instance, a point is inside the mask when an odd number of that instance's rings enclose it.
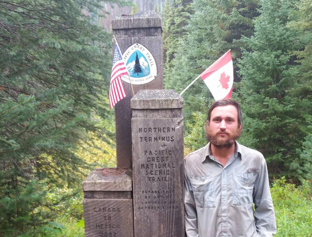
<instances>
[{"instance_id":1,"label":"pale green evergreen tree directly behind the Canadian flag","mask_svg":"<svg viewBox=\"0 0 312 237\"><path fill-rule=\"evenodd\" d=\"M171 61L170 71L165 70L165 87L181 92L229 49L232 49L234 81L239 81L235 72L241 44L235 40L240 39L241 35L252 35L251 19L258 15L258 5L252 0L194 0L191 7L196 11L185 27L187 36L173 49L177 53ZM192 114L207 110L213 98L200 79L184 92L183 98L183 114L185 121L188 121L185 128L188 129L188 123L196 123Z\"/></svg>"}]
</instances>

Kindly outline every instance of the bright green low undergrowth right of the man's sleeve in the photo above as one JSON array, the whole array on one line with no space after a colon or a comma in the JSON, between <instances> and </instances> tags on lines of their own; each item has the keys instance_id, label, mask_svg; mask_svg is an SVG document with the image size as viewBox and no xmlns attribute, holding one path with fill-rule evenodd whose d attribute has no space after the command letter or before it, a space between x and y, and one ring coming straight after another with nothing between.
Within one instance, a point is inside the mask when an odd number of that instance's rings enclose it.
<instances>
[{"instance_id":1,"label":"bright green low undergrowth right of the man's sleeve","mask_svg":"<svg viewBox=\"0 0 312 237\"><path fill-rule=\"evenodd\" d=\"M271 187L277 233L275 236L294 237L312 235L312 185L302 186L286 182L285 177L274 181Z\"/></svg>"}]
</instances>

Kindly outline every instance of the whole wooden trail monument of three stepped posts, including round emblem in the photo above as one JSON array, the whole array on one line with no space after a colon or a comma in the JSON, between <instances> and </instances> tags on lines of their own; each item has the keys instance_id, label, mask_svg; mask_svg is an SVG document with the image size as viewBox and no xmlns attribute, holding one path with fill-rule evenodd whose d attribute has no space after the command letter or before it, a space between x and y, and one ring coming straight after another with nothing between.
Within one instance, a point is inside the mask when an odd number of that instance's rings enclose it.
<instances>
[{"instance_id":1,"label":"whole wooden trail monument of three stepped posts, including round emblem","mask_svg":"<svg viewBox=\"0 0 312 237\"><path fill-rule=\"evenodd\" d=\"M163 90L161 19L122 15L112 28L135 95L122 78L117 168L97 168L83 182L85 236L184 237L183 98Z\"/></svg>"}]
</instances>

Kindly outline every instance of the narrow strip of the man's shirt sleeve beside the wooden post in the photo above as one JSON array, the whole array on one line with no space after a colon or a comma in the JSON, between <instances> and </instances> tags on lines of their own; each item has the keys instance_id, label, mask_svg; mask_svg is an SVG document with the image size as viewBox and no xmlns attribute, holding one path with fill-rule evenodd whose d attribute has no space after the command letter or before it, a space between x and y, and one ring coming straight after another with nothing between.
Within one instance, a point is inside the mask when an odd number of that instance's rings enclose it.
<instances>
[{"instance_id":1,"label":"narrow strip of the man's shirt sleeve beside the wooden post","mask_svg":"<svg viewBox=\"0 0 312 237\"><path fill-rule=\"evenodd\" d=\"M184 159L184 208L185 208L185 232L187 237L198 237L197 211L191 183L185 170L186 160Z\"/></svg>"}]
</instances>

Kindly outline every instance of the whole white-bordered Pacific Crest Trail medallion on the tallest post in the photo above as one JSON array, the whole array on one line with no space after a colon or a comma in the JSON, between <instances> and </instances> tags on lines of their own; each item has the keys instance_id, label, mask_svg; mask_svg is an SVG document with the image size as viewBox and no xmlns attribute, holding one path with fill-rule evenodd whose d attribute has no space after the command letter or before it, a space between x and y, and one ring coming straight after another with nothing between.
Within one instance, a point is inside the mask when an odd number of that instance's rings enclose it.
<instances>
[{"instance_id":1,"label":"whole white-bordered Pacific Crest Trail medallion on the tallest post","mask_svg":"<svg viewBox=\"0 0 312 237\"><path fill-rule=\"evenodd\" d=\"M157 67L151 52L143 45L135 43L122 55L131 79L131 83L141 85L157 77ZM124 82L130 83L128 75L121 76Z\"/></svg>"}]
</instances>

